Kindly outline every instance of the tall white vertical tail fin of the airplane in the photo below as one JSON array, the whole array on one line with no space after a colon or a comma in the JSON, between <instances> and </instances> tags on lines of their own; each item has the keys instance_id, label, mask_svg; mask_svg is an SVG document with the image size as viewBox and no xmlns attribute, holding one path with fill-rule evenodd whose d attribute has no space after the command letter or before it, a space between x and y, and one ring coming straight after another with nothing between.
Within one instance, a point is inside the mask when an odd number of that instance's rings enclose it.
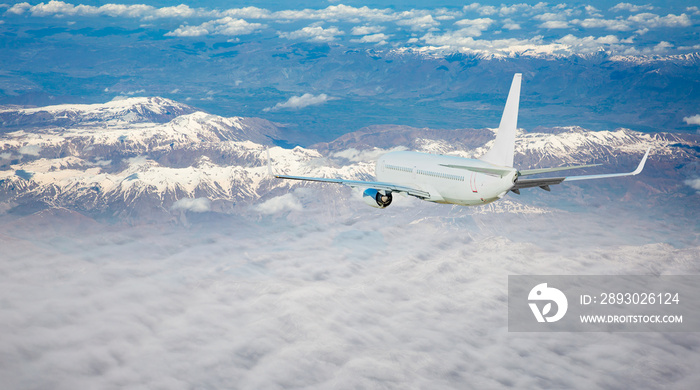
<instances>
[{"instance_id":1,"label":"tall white vertical tail fin of the airplane","mask_svg":"<svg viewBox=\"0 0 700 390\"><path fill-rule=\"evenodd\" d=\"M515 130L518 127L520 82L522 81L522 76L522 73L516 73L515 76L513 76L513 83L510 85L506 108L503 110L501 124L498 126L498 132L496 133L496 141L494 141L491 150L479 157L479 160L504 167L513 166Z\"/></svg>"}]
</instances>

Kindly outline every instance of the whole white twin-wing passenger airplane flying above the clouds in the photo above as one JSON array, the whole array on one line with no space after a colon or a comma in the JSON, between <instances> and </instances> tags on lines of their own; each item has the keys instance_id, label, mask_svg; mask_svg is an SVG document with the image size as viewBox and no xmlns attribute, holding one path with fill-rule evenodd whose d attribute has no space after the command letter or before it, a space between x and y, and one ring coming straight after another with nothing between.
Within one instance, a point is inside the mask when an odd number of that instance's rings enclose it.
<instances>
[{"instance_id":1,"label":"whole white twin-wing passenger airplane flying above the clouds","mask_svg":"<svg viewBox=\"0 0 700 390\"><path fill-rule=\"evenodd\" d=\"M428 202L477 206L499 200L508 192L520 194L523 188L539 187L550 191L551 185L565 181L633 176L642 172L651 148L647 149L637 169L628 173L529 178L536 174L588 168L601 164L540 169L514 168L513 155L521 81L522 74L516 73L513 76L493 146L478 159L409 151L389 152L377 160L375 166L377 181L360 181L273 174L268 151L268 173L278 179L344 184L364 189L362 199L365 203L383 209L391 204L392 194L395 192Z\"/></svg>"}]
</instances>

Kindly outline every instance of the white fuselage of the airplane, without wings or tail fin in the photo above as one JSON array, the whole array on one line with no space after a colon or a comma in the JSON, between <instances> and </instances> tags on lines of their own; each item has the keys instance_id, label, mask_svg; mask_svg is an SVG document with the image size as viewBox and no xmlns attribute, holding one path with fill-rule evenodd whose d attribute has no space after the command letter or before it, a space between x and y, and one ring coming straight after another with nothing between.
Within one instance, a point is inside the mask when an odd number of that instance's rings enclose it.
<instances>
[{"instance_id":1,"label":"white fuselage of the airplane, without wings or tail fin","mask_svg":"<svg viewBox=\"0 0 700 390\"><path fill-rule=\"evenodd\" d=\"M503 176L450 168L458 165L508 170ZM513 187L515 168L497 167L485 161L419 152L390 152L377 160L378 181L417 186L430 193L425 200L474 206L504 197Z\"/></svg>"}]
</instances>

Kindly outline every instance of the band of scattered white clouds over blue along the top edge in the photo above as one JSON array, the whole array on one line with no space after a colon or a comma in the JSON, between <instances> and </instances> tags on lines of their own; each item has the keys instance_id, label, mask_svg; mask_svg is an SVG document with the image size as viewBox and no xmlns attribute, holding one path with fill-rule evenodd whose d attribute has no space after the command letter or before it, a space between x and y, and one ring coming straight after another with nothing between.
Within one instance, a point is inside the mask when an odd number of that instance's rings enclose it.
<instances>
[{"instance_id":1,"label":"band of scattered white clouds over blue along the top edge","mask_svg":"<svg viewBox=\"0 0 700 390\"><path fill-rule=\"evenodd\" d=\"M270 11L258 7L217 10L187 5L157 8L147 4L97 7L50 1L36 5L18 3L5 11L5 16L15 17L106 16L151 23L182 20L182 25L165 34L168 37L192 39L274 33L289 40L388 44L429 52L462 51L484 55L571 55L599 50L621 55L687 52L693 42L683 30L697 26L693 15L698 14L697 7L664 10L630 3L619 3L607 10L590 5L472 3L449 9L394 10L337 4L320 9ZM547 34L543 34L543 30ZM616 34L616 44L600 40L611 33ZM363 37L353 38L353 35ZM566 36L595 43L568 45L561 41ZM478 37L483 38L476 39ZM674 41L674 44L669 43Z\"/></svg>"}]
</instances>

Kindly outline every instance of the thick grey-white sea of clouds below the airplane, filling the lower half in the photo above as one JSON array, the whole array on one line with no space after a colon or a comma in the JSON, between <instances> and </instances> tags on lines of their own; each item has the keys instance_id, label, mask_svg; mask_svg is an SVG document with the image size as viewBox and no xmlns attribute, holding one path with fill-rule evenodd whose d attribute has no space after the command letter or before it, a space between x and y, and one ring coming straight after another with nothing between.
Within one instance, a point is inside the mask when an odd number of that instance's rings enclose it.
<instances>
[{"instance_id":1,"label":"thick grey-white sea of clouds below the airplane, filling the lower half","mask_svg":"<svg viewBox=\"0 0 700 390\"><path fill-rule=\"evenodd\" d=\"M187 226L5 216L6 388L692 388L696 333L510 333L518 274L697 274L643 214L298 190ZM502 201L505 202L505 201ZM475 211L477 210L477 211ZM675 244L669 243L675 237Z\"/></svg>"}]
</instances>

